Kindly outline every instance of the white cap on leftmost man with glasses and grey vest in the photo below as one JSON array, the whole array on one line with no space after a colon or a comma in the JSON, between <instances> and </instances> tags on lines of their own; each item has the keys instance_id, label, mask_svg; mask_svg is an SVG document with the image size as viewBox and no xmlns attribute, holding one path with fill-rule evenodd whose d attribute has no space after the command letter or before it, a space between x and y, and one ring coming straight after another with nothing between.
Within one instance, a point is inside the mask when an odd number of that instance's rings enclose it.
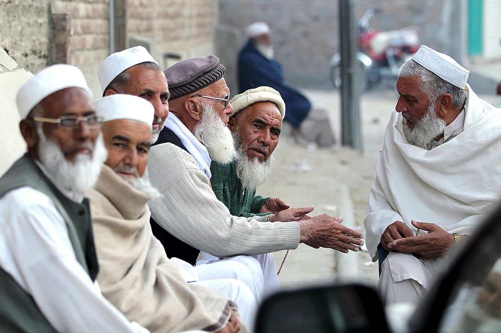
<instances>
[{"instance_id":1,"label":"white cap on leftmost man with glasses and grey vest","mask_svg":"<svg viewBox=\"0 0 501 333\"><path fill-rule=\"evenodd\" d=\"M66 88L85 89L92 99L92 91L80 69L71 65L52 65L31 77L18 91L16 103L21 119L47 96Z\"/></svg>"}]
</instances>

